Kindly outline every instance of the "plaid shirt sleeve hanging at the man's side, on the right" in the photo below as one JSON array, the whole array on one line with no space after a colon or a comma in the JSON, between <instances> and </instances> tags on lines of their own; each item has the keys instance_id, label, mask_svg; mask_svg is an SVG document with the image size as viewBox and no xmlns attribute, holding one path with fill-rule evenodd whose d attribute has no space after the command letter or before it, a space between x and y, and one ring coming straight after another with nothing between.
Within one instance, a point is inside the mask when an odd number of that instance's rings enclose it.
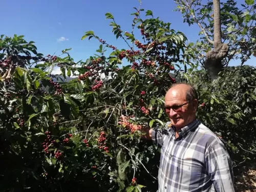
<instances>
[{"instance_id":1,"label":"plaid shirt sleeve hanging at the man's side, on the right","mask_svg":"<svg viewBox=\"0 0 256 192\"><path fill-rule=\"evenodd\" d=\"M206 169L210 179L214 183L217 192L233 192L233 170L232 161L226 150L221 144L210 147L206 153Z\"/></svg>"}]
</instances>

